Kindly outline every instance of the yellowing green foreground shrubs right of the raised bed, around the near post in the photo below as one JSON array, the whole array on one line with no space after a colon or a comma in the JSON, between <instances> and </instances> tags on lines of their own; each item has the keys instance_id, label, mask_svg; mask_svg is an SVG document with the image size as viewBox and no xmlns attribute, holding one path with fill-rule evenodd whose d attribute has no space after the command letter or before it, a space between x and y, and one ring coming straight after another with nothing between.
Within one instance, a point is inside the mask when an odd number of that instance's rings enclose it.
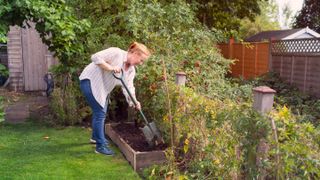
<instances>
[{"instance_id":1,"label":"yellowing green foreground shrubs right of the raised bed, around the near post","mask_svg":"<svg viewBox=\"0 0 320 180\"><path fill-rule=\"evenodd\" d=\"M278 127L279 142L275 142L271 121L252 110L250 102L210 99L171 83L168 91L163 82L159 86L151 102L155 113L150 116L163 130L166 142L174 138L174 146L167 150L170 163L146 170L149 179L168 176L230 179L235 175L254 179L261 176L259 168L266 169L271 179L319 177L320 129L297 121L299 116L292 115L287 108L272 112ZM170 117L174 136L170 136ZM269 156L258 167L258 146L262 139L270 145Z\"/></svg>"}]
</instances>

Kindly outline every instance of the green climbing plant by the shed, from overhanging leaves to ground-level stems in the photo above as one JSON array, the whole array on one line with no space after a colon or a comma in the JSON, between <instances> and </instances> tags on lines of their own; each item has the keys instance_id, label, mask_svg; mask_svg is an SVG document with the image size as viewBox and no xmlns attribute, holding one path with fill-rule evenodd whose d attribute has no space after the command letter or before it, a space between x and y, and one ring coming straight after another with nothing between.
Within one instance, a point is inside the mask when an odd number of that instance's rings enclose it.
<instances>
[{"instance_id":1,"label":"green climbing plant by the shed, from overhanging leaves to ground-level stems","mask_svg":"<svg viewBox=\"0 0 320 180\"><path fill-rule=\"evenodd\" d=\"M71 116L70 112L77 112L75 96L68 96L70 89L75 89L71 79L77 67L81 64L79 57L85 52L86 34L90 27L87 20L79 20L73 9L64 0L0 0L0 41L7 40L6 35L10 26L29 27L30 22L35 23L42 41L59 60L54 69L56 92L59 97L53 98L52 104L59 101L60 105L53 108L57 119L65 122L65 117L72 117L73 124L79 119ZM77 88L76 88L77 89ZM74 93L73 93L74 94ZM68 98L67 98L68 97ZM67 116L69 114L69 116ZM74 113L78 114L78 113Z\"/></svg>"}]
</instances>

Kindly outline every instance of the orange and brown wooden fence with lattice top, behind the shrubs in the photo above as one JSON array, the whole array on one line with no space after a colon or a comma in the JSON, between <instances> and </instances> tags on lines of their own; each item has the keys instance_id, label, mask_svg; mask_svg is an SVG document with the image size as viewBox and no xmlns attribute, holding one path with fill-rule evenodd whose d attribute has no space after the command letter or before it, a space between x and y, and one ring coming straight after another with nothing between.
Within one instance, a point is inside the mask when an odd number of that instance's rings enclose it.
<instances>
[{"instance_id":1,"label":"orange and brown wooden fence with lattice top, behind the shrubs","mask_svg":"<svg viewBox=\"0 0 320 180\"><path fill-rule=\"evenodd\" d=\"M303 92L320 97L320 38L272 41L271 43L220 44L225 58L236 59L233 77L255 78L269 72Z\"/></svg>"}]
</instances>

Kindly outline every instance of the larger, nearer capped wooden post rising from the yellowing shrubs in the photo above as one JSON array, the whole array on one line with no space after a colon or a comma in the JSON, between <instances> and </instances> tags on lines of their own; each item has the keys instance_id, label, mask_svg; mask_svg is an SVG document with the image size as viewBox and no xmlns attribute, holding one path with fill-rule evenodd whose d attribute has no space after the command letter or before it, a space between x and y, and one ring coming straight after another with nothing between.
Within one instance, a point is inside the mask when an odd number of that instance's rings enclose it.
<instances>
[{"instance_id":1,"label":"larger, nearer capped wooden post rising from the yellowing shrubs","mask_svg":"<svg viewBox=\"0 0 320 180\"><path fill-rule=\"evenodd\" d=\"M261 114L268 113L272 110L275 90L267 86L259 86L253 88L254 101L253 109L260 112ZM256 165L258 171L260 172L259 179L266 178L266 170L262 167L262 162L267 158L267 152L269 145L267 144L266 139L260 139L260 142L257 146L257 156L256 156Z\"/></svg>"}]
</instances>

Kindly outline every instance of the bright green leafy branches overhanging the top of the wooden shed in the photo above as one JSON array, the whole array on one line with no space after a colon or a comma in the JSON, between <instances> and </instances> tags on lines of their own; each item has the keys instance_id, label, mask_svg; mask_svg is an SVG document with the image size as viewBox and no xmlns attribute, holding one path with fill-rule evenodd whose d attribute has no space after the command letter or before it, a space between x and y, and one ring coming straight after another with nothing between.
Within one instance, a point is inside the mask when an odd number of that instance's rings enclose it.
<instances>
[{"instance_id":1,"label":"bright green leafy branches overhanging the top of the wooden shed","mask_svg":"<svg viewBox=\"0 0 320 180\"><path fill-rule=\"evenodd\" d=\"M64 67L71 67L74 57L83 52L83 37L90 25L76 19L64 0L0 1L1 41L6 40L9 26L27 27L28 22L36 23L42 41Z\"/></svg>"}]
</instances>

